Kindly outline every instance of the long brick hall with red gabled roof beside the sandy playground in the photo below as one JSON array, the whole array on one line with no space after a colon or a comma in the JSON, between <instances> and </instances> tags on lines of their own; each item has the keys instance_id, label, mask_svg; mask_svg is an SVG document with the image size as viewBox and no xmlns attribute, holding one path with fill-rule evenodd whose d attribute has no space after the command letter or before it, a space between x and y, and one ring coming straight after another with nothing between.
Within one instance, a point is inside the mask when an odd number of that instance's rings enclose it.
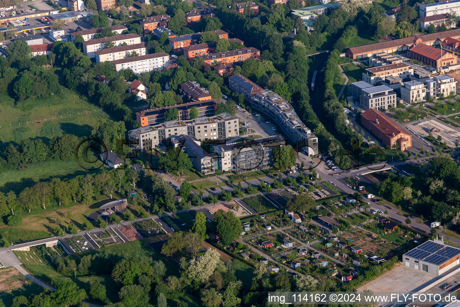
<instances>
[{"instance_id":1,"label":"long brick hall with red gabled roof beside the sandy playground","mask_svg":"<svg viewBox=\"0 0 460 307\"><path fill-rule=\"evenodd\" d=\"M361 114L362 125L373 133L380 142L404 151L412 147L412 137L403 128L380 111L368 109Z\"/></svg>"}]
</instances>

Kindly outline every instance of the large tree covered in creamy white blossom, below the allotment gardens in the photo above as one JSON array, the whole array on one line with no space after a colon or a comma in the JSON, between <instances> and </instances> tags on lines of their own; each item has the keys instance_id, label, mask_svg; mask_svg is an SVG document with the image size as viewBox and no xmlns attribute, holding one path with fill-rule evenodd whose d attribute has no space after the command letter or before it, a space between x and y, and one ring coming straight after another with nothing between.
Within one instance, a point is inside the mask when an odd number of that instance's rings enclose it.
<instances>
[{"instance_id":1,"label":"large tree covered in creamy white blossom, below the allotment gardens","mask_svg":"<svg viewBox=\"0 0 460 307\"><path fill-rule=\"evenodd\" d=\"M225 272L224 262L220 260L217 249L208 249L204 255L190 261L189 277L206 283L214 272Z\"/></svg>"}]
</instances>

